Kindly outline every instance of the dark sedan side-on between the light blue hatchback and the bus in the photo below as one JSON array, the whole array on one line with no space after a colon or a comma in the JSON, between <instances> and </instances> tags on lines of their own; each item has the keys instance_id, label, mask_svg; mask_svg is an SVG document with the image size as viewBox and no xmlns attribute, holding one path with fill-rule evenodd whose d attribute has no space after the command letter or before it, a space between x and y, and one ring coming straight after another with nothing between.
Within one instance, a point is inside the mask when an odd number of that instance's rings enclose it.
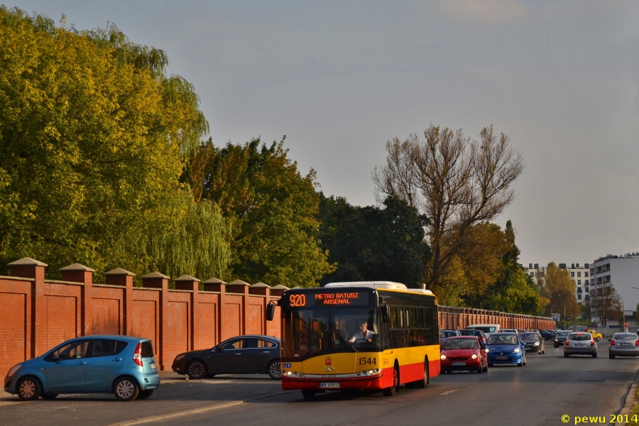
<instances>
[{"instance_id":1,"label":"dark sedan side-on between the light blue hatchback and the bus","mask_svg":"<svg viewBox=\"0 0 639 426\"><path fill-rule=\"evenodd\" d=\"M212 377L216 374L268 374L279 380L280 339L248 334L228 339L211 349L179 354L173 361L173 371L190 378Z\"/></svg>"}]
</instances>

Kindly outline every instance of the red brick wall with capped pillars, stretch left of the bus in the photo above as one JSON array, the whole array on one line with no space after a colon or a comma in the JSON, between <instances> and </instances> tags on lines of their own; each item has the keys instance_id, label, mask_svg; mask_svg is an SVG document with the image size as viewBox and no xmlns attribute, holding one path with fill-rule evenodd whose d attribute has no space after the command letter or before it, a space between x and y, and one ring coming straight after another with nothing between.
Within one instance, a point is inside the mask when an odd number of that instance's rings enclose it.
<instances>
[{"instance_id":1,"label":"red brick wall with capped pillars, stretch left of the bus","mask_svg":"<svg viewBox=\"0 0 639 426\"><path fill-rule=\"evenodd\" d=\"M175 280L180 290L169 290L168 277L158 274L145 275L143 287L136 288L133 274L120 269L99 285L92 283L94 271L82 265L62 268L63 280L45 280L46 265L29 258L9 267L11 276L0 276L3 377L11 366L83 335L151 339L160 368L170 370L180 352L207 349L239 334L280 333L279 317L268 322L264 312L282 290L271 293L266 285L234 286L231 293L224 283L205 282L200 291L199 280L189 277L179 285L180 278Z\"/></svg>"}]
</instances>

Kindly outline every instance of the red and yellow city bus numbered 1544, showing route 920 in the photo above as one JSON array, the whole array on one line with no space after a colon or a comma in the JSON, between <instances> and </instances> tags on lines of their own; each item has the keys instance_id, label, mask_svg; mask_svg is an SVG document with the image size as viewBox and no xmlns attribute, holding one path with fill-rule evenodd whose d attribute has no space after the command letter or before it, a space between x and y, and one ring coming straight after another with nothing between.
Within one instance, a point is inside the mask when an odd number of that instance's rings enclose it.
<instances>
[{"instance_id":1,"label":"red and yellow city bus numbered 1544, showing route 920","mask_svg":"<svg viewBox=\"0 0 639 426\"><path fill-rule=\"evenodd\" d=\"M330 283L285 290L282 388L318 392L424 388L439 374L437 298L389 281ZM275 307L267 309L272 320Z\"/></svg>"}]
</instances>

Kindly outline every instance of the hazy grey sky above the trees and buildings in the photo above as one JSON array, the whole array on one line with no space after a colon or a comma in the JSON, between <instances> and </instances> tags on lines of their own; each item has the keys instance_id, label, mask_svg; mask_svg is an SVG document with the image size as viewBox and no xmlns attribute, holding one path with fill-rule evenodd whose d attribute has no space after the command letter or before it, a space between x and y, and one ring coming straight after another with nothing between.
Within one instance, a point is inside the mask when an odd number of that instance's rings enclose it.
<instances>
[{"instance_id":1,"label":"hazy grey sky above the trees and buildings","mask_svg":"<svg viewBox=\"0 0 639 426\"><path fill-rule=\"evenodd\" d=\"M637 1L4 4L165 50L216 144L285 134L302 172L352 204L374 203L388 139L493 124L526 162L497 220L523 263L639 251Z\"/></svg>"}]
</instances>

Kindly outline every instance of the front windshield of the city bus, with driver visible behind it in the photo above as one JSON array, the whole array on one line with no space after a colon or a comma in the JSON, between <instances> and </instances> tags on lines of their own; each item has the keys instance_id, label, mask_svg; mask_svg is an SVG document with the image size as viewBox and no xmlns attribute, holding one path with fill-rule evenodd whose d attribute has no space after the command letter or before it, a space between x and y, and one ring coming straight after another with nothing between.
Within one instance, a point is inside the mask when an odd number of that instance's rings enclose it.
<instances>
[{"instance_id":1,"label":"front windshield of the city bus, with driver visible behind it","mask_svg":"<svg viewBox=\"0 0 639 426\"><path fill-rule=\"evenodd\" d=\"M379 351L379 324L371 307L310 307L285 314L282 357L297 360L330 352Z\"/></svg>"}]
</instances>

